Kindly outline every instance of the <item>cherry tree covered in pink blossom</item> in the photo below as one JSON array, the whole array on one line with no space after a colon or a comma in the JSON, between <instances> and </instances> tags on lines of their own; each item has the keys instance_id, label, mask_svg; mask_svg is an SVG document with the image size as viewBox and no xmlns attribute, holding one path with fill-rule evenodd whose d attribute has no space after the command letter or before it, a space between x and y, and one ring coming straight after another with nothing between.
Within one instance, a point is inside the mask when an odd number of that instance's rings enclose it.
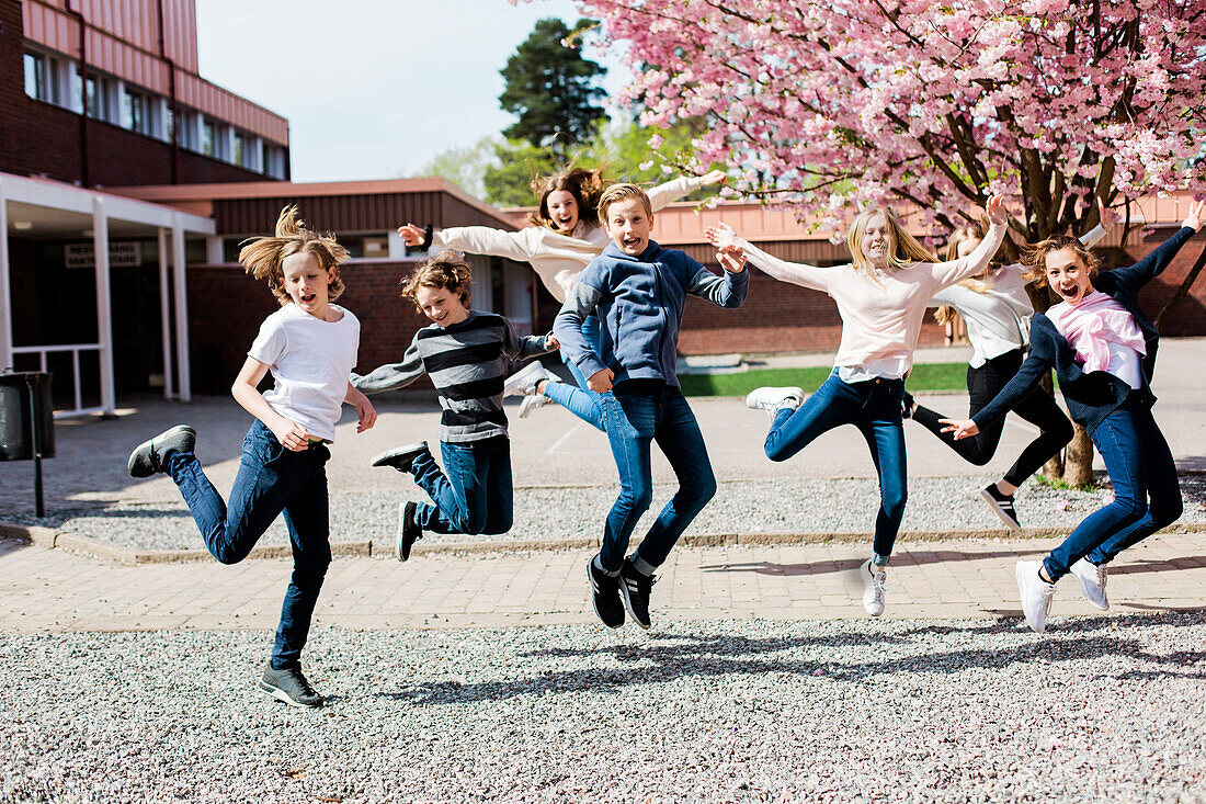
<instances>
[{"instance_id":1,"label":"cherry tree covered in pink blossom","mask_svg":"<svg viewBox=\"0 0 1206 804\"><path fill-rule=\"evenodd\" d=\"M1036 241L1096 223L1094 194L1206 193L1206 0L579 6L624 48L643 124L710 121L679 169L727 163L727 192L818 226L903 202L950 228L1003 193ZM1048 474L1083 484L1091 458L1081 431Z\"/></svg>"}]
</instances>

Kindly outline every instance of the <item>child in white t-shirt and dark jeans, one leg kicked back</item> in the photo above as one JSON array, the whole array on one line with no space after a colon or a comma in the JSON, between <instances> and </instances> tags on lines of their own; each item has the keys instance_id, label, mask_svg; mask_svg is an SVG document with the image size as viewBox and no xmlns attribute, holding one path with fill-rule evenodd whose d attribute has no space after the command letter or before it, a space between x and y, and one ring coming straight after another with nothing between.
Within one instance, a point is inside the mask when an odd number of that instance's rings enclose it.
<instances>
[{"instance_id":1,"label":"child in white t-shirt and dark jeans, one leg kicked back","mask_svg":"<svg viewBox=\"0 0 1206 804\"><path fill-rule=\"evenodd\" d=\"M302 674L302 648L330 564L326 444L335 437L344 402L356 407L357 432L376 421L368 398L349 381L361 324L332 303L344 291L338 267L347 256L333 237L306 229L295 206L281 211L276 237L259 238L239 254L247 273L268 280L281 309L264 319L230 388L256 421L244 439L229 507L201 471L193 454L197 432L188 425L140 444L128 464L133 477L171 476L205 547L223 564L245 559L283 512L293 575L259 688L294 706L323 704ZM275 385L260 395L256 386L268 371Z\"/></svg>"}]
</instances>

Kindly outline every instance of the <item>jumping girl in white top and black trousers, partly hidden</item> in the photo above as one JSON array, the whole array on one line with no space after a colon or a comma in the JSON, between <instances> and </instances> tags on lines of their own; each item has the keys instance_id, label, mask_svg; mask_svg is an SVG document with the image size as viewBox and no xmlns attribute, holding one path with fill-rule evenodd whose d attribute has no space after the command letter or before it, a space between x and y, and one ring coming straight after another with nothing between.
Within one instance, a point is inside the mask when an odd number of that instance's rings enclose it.
<instances>
[{"instance_id":1,"label":"jumping girl in white top and black trousers, partly hidden","mask_svg":"<svg viewBox=\"0 0 1206 804\"><path fill-rule=\"evenodd\" d=\"M1085 246L1101 240L1111 225L1110 212L1100 200L1099 209L1101 225L1081 238ZM955 229L947 241L947 260L971 254L983 237L979 226ZM1026 356L1029 319L1035 310L1026 295L1024 270L1025 267L1019 264L990 267L984 274L946 287L930 299L930 307L938 308L935 313L938 324L946 324L955 313L967 322L967 339L972 344L972 359L967 363L967 415L974 415L988 404L1013 379ZM1072 424L1052 395L1042 389L1023 397L1013 412L1038 427L1038 436L1021 450L1000 480L984 487L980 497L1011 530L1020 530L1013 495L1028 477L1055 458L1072 439ZM915 404L908 391L904 392L903 413L906 419L917 421L976 466L993 460L1005 433L1002 418L974 438L955 441L950 433L943 432L943 415Z\"/></svg>"}]
</instances>

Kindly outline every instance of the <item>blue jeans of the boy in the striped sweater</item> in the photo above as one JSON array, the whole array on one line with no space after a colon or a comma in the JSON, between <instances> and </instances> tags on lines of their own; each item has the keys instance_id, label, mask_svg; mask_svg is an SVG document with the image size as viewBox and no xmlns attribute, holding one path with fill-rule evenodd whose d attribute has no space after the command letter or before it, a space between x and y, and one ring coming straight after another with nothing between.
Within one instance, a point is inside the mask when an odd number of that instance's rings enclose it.
<instances>
[{"instance_id":1,"label":"blue jeans of the boy in the striped sweater","mask_svg":"<svg viewBox=\"0 0 1206 804\"><path fill-rule=\"evenodd\" d=\"M464 443L440 442L444 472L429 453L410 467L435 505L418 503L418 526L434 534L486 534L511 529L511 442L494 436ZM447 474L445 474L447 472Z\"/></svg>"}]
</instances>

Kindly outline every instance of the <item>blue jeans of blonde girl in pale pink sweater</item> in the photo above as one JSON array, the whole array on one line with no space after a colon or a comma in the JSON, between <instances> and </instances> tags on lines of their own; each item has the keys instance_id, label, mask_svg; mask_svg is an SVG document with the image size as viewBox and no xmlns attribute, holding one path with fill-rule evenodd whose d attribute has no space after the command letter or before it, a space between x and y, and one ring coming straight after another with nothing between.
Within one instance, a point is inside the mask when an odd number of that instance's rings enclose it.
<instances>
[{"instance_id":1,"label":"blue jeans of blonde girl in pale pink sweater","mask_svg":"<svg viewBox=\"0 0 1206 804\"><path fill-rule=\"evenodd\" d=\"M785 461L835 427L853 424L859 429L879 476L879 514L876 517L872 559L880 566L891 558L908 501L904 427L901 423L903 398L903 380L877 377L862 383L845 383L835 368L797 410L783 408L775 413L766 437L766 456L772 461Z\"/></svg>"}]
</instances>

